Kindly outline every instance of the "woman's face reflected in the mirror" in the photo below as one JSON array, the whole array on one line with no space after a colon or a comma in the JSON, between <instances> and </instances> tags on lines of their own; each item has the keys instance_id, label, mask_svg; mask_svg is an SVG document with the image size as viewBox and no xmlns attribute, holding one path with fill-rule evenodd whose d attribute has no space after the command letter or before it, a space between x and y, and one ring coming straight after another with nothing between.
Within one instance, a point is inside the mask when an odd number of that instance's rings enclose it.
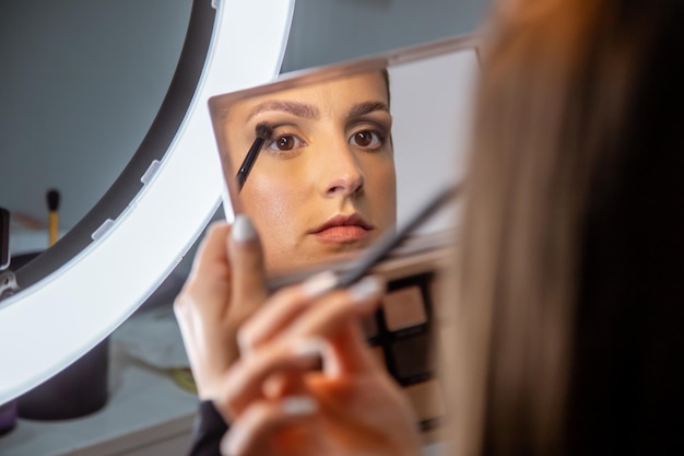
<instances>
[{"instance_id":1,"label":"woman's face reflected in the mirror","mask_svg":"<svg viewBox=\"0 0 684 456\"><path fill-rule=\"evenodd\" d=\"M387 83L380 72L231 106L226 138L239 166L257 125L272 128L240 192L270 270L367 246L396 223Z\"/></svg>"}]
</instances>

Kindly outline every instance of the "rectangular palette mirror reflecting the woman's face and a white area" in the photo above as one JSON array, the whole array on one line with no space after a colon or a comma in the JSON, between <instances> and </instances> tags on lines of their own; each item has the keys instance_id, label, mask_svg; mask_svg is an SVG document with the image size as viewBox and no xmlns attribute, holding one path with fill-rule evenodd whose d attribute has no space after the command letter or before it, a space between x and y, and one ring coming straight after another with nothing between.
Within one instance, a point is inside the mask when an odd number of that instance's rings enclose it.
<instances>
[{"instance_id":1,"label":"rectangular palette mirror reflecting the woman's face and a white area","mask_svg":"<svg viewBox=\"0 0 684 456\"><path fill-rule=\"evenodd\" d=\"M462 179L477 67L458 37L210 98L224 201L253 221L269 272L354 258Z\"/></svg>"}]
</instances>

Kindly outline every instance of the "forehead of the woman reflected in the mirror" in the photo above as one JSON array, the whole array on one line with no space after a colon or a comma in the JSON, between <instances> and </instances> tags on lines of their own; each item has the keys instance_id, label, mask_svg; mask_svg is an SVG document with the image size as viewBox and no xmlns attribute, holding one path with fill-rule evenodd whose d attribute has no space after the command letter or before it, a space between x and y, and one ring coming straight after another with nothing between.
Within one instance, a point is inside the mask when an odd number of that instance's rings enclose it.
<instances>
[{"instance_id":1,"label":"forehead of the woman reflected in the mirror","mask_svg":"<svg viewBox=\"0 0 684 456\"><path fill-rule=\"evenodd\" d=\"M241 100L229 106L227 120L248 121L258 114L278 110L279 102L297 102L312 108L304 110L303 116L312 116L314 112L345 113L358 103L389 104L388 91L381 72L355 74Z\"/></svg>"}]
</instances>

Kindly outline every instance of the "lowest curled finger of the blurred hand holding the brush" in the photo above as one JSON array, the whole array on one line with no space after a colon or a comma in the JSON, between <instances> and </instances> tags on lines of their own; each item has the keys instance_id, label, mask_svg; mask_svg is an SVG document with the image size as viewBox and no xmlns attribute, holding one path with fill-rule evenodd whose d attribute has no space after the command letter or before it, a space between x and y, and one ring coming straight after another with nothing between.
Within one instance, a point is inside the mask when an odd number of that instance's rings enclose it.
<instances>
[{"instance_id":1,"label":"lowest curled finger of the blurred hand holding the brush","mask_svg":"<svg viewBox=\"0 0 684 456\"><path fill-rule=\"evenodd\" d=\"M309 396L288 396L279 401L257 401L234 423L221 442L225 456L264 456L269 454L270 437L279 429L314 416L316 401ZM278 449L279 453L283 448Z\"/></svg>"}]
</instances>

